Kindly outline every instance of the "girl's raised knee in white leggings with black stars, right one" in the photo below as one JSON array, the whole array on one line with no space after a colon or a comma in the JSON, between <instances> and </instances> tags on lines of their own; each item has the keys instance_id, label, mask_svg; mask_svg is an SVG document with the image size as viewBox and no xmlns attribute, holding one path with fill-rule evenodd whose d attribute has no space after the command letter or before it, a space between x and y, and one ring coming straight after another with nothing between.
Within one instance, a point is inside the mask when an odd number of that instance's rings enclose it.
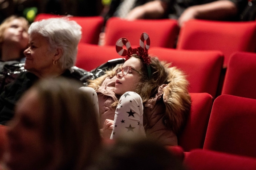
<instances>
[{"instance_id":1,"label":"girl's raised knee in white leggings with black stars, right one","mask_svg":"<svg viewBox=\"0 0 256 170\"><path fill-rule=\"evenodd\" d=\"M110 139L126 136L146 137L143 128L142 98L135 92L126 92L120 97Z\"/></svg>"}]
</instances>

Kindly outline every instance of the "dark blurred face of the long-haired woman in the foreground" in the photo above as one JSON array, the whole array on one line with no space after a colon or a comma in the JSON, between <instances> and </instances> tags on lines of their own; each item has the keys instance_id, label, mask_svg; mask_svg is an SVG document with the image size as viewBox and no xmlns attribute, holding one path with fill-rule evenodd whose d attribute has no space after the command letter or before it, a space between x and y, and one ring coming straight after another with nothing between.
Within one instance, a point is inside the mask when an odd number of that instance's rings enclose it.
<instances>
[{"instance_id":1,"label":"dark blurred face of the long-haired woman in the foreground","mask_svg":"<svg viewBox=\"0 0 256 170\"><path fill-rule=\"evenodd\" d=\"M16 107L8 130L9 146L4 162L15 170L38 170L45 167L49 144L42 135L43 108L35 90L29 91Z\"/></svg>"}]
</instances>

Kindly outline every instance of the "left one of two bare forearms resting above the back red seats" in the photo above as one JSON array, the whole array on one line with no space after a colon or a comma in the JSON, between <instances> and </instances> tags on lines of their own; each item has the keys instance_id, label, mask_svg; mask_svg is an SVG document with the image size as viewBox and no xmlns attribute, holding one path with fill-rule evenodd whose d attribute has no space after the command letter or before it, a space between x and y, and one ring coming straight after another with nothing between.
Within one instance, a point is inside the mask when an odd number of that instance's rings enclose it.
<instances>
[{"instance_id":1,"label":"left one of two bare forearms resting above the back red seats","mask_svg":"<svg viewBox=\"0 0 256 170\"><path fill-rule=\"evenodd\" d=\"M126 19L159 19L162 18L167 10L167 3L162 0L150 1L132 9Z\"/></svg>"}]
</instances>

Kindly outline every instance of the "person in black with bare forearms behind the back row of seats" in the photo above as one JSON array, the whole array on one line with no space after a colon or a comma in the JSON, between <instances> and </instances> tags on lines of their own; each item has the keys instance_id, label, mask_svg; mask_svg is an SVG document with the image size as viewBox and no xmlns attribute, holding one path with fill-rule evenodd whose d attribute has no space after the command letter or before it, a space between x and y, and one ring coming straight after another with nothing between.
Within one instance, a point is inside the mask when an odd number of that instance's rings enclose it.
<instances>
[{"instance_id":1,"label":"person in black with bare forearms behind the back row of seats","mask_svg":"<svg viewBox=\"0 0 256 170\"><path fill-rule=\"evenodd\" d=\"M179 26L190 19L239 20L247 0L154 0L134 8L126 19L158 19L166 14Z\"/></svg>"}]
</instances>

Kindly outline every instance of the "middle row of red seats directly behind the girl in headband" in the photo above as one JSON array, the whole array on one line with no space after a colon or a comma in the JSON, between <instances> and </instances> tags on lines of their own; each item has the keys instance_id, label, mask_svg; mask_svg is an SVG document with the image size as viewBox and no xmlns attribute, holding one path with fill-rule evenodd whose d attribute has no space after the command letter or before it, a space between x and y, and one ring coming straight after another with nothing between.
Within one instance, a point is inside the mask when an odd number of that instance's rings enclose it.
<instances>
[{"instance_id":1,"label":"middle row of red seats directly behind the girl in headband","mask_svg":"<svg viewBox=\"0 0 256 170\"><path fill-rule=\"evenodd\" d=\"M113 46L79 44L76 66L92 70L102 63L120 58ZM189 92L209 93L216 98L230 94L256 99L256 53L236 52L223 75L223 53L214 50L175 50L151 47L151 56L171 62L187 74Z\"/></svg>"}]
</instances>

